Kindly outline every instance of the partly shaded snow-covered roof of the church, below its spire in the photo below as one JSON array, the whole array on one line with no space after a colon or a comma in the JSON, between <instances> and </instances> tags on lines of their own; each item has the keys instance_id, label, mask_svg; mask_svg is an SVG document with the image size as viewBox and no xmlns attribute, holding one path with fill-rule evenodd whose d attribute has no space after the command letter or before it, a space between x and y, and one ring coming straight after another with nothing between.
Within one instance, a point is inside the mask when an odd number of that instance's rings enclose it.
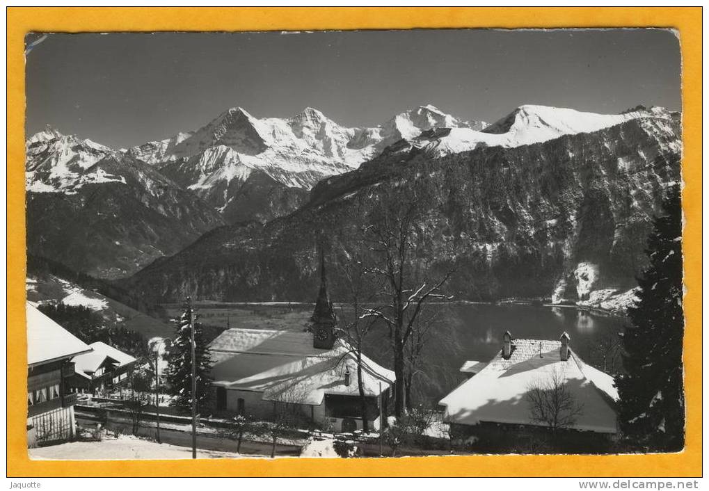
<instances>
[{"instance_id":1,"label":"partly shaded snow-covered roof of the church, below its spire","mask_svg":"<svg viewBox=\"0 0 709 491\"><path fill-rule=\"evenodd\" d=\"M228 329L210 344L213 385L263 393L263 400L320 405L325 394L358 395L357 361L342 339L313 347L309 332ZM364 393L379 395L392 371L362 356ZM350 371L350 384L345 373Z\"/></svg>"}]
</instances>

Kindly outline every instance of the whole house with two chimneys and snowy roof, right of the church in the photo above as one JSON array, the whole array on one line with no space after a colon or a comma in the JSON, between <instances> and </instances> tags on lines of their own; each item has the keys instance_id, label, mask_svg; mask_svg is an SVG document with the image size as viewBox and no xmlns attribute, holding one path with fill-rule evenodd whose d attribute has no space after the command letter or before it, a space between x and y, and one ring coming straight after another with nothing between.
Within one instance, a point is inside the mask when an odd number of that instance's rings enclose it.
<instances>
[{"instance_id":1,"label":"whole house with two chimneys and snowy roof, right of the church","mask_svg":"<svg viewBox=\"0 0 709 491\"><path fill-rule=\"evenodd\" d=\"M445 396L445 421L458 434L478 440L508 439L508 444L534 439L552 425L535 417L530 390L563 387L567 407L557 408L569 441L603 441L618 432L613 378L584 363L569 346L565 332L559 340L513 339L503 335L503 346L487 362L466 361L461 371L468 379ZM567 414L564 414L566 412ZM498 447L506 444L497 442Z\"/></svg>"}]
</instances>

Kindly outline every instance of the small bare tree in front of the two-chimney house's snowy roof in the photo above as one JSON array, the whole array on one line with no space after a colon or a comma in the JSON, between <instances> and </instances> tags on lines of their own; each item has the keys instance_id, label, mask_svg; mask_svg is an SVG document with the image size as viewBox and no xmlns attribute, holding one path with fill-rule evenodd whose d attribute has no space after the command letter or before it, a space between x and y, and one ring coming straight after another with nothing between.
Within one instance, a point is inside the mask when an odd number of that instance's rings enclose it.
<instances>
[{"instance_id":1,"label":"small bare tree in front of the two-chimney house's snowy roof","mask_svg":"<svg viewBox=\"0 0 709 491\"><path fill-rule=\"evenodd\" d=\"M530 383L525 394L532 422L544 424L549 429L566 429L574 426L584 414L584 405L576 401L564 380L561 368L554 368L549 377Z\"/></svg>"}]
</instances>

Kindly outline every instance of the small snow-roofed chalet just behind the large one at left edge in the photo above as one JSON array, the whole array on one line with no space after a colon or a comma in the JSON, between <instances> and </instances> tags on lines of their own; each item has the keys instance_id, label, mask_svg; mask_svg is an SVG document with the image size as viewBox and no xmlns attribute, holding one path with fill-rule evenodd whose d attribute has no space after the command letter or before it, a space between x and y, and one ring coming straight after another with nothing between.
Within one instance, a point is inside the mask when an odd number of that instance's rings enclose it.
<instances>
[{"instance_id":1,"label":"small snow-roofed chalet just behind the large one at left edge","mask_svg":"<svg viewBox=\"0 0 709 491\"><path fill-rule=\"evenodd\" d=\"M94 394L128 381L130 372L135 368L133 356L100 341L89 346L91 352L72 359L74 376L69 379L71 392Z\"/></svg>"}]
</instances>

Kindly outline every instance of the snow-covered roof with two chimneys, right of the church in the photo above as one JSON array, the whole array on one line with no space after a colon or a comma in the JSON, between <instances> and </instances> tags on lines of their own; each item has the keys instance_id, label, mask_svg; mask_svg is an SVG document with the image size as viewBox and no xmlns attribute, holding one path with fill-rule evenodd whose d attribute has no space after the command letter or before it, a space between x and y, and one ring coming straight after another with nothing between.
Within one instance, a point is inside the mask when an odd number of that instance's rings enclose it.
<instances>
[{"instance_id":1,"label":"snow-covered roof with two chimneys, right of the church","mask_svg":"<svg viewBox=\"0 0 709 491\"><path fill-rule=\"evenodd\" d=\"M532 385L548 384L557 373L582 406L572 428L617 431L613 406L618 391L613 387L613 377L586 365L570 349L569 359L562 361L559 341L513 339L512 346L509 359L503 359L499 352L479 373L440 401L446 407L447 422L539 424L530 418L525 394Z\"/></svg>"}]
</instances>

